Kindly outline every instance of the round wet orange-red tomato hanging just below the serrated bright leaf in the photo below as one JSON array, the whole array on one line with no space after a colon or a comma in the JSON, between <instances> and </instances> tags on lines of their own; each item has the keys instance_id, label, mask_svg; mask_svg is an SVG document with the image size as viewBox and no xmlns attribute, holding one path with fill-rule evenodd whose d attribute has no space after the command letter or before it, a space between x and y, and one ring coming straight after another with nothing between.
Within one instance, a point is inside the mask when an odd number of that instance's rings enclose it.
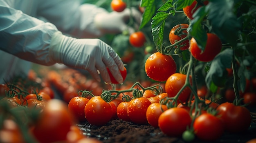
<instances>
[{"instance_id":1,"label":"round wet orange-red tomato hanging just below the serrated bright leaf","mask_svg":"<svg viewBox=\"0 0 256 143\"><path fill-rule=\"evenodd\" d=\"M176 72L176 68L173 57L159 52L150 55L145 63L146 74L155 81L166 81Z\"/></svg>"}]
</instances>

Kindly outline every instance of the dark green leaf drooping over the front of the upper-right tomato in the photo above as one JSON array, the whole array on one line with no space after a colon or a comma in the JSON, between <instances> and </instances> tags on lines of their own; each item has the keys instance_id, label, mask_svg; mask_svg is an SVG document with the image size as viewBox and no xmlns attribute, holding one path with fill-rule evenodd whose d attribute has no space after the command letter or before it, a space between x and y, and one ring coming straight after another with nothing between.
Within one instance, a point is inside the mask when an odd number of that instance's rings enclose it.
<instances>
[{"instance_id":1,"label":"dark green leaf drooping over the front of the upper-right tomato","mask_svg":"<svg viewBox=\"0 0 256 143\"><path fill-rule=\"evenodd\" d=\"M195 38L195 41L198 44L198 47L204 51L207 42L207 33L202 28L202 21L204 20L207 12L205 12L205 7L200 7L195 13L193 14L194 18L191 20L187 31L189 35Z\"/></svg>"}]
</instances>

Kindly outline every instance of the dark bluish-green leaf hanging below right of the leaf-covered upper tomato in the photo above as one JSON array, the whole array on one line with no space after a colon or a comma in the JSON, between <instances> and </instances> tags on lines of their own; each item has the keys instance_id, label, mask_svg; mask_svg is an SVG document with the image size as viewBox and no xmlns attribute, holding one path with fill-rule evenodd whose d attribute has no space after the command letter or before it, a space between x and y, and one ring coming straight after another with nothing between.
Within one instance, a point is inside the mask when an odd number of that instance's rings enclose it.
<instances>
[{"instance_id":1,"label":"dark bluish-green leaf hanging below right of the leaf-covered upper tomato","mask_svg":"<svg viewBox=\"0 0 256 143\"><path fill-rule=\"evenodd\" d=\"M233 50L228 48L219 53L211 62L209 72L205 77L205 83L208 88L212 84L223 87L227 80L227 70L226 68L231 67L231 60L233 57Z\"/></svg>"}]
</instances>

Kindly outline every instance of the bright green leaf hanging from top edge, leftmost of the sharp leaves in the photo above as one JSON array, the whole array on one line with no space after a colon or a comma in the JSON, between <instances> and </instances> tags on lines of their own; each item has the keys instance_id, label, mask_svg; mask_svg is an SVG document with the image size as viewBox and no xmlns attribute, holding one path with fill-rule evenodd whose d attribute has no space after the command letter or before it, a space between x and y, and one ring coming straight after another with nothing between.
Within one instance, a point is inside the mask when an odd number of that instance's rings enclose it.
<instances>
[{"instance_id":1,"label":"bright green leaf hanging from top edge, leftmost of the sharp leaves","mask_svg":"<svg viewBox=\"0 0 256 143\"><path fill-rule=\"evenodd\" d=\"M139 29L142 29L155 14L155 0L141 0L141 7L145 7L145 10L144 13L142 14L142 20Z\"/></svg>"}]
</instances>

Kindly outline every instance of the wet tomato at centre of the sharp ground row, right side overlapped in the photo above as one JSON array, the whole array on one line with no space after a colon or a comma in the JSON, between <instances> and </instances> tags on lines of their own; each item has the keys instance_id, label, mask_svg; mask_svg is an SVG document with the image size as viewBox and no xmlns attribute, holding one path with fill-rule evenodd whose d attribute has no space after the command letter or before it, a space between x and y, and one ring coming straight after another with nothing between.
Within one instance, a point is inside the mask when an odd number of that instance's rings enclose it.
<instances>
[{"instance_id":1,"label":"wet tomato at centre of the sharp ground row, right side overlapped","mask_svg":"<svg viewBox=\"0 0 256 143\"><path fill-rule=\"evenodd\" d=\"M129 101L127 112L130 120L138 124L148 123L146 111L150 104L151 102L144 97L135 98Z\"/></svg>"}]
</instances>

